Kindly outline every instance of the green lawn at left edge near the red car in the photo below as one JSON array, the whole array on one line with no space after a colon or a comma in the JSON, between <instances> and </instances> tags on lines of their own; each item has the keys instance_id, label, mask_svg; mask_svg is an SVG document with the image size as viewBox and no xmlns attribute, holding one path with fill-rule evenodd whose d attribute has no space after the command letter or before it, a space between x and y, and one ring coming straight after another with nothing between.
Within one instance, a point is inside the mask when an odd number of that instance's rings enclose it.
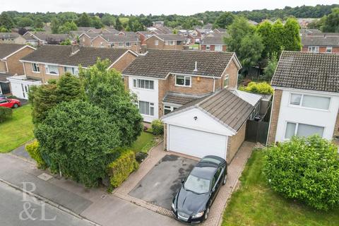
<instances>
[{"instance_id":1,"label":"green lawn at left edge near the red car","mask_svg":"<svg viewBox=\"0 0 339 226\"><path fill-rule=\"evenodd\" d=\"M30 105L13 109L13 117L0 124L0 153L8 153L32 140L31 112Z\"/></svg>"}]
</instances>

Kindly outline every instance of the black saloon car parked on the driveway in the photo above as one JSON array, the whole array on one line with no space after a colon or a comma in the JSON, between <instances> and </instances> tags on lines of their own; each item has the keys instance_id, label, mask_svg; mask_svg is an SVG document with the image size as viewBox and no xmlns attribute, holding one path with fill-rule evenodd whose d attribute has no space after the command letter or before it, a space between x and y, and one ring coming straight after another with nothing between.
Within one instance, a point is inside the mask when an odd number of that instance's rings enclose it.
<instances>
[{"instance_id":1,"label":"black saloon car parked on the driveway","mask_svg":"<svg viewBox=\"0 0 339 226\"><path fill-rule=\"evenodd\" d=\"M206 220L210 206L226 181L227 162L214 155L203 157L173 198L172 212L177 220L187 223Z\"/></svg>"}]
</instances>

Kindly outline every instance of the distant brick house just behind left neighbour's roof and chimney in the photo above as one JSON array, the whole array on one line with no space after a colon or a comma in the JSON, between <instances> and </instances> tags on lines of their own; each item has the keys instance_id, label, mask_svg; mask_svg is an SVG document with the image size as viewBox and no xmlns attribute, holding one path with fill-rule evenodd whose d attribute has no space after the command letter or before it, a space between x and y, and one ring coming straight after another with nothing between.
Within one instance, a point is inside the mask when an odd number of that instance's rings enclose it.
<instances>
[{"instance_id":1,"label":"distant brick house just behind left neighbour's roof and chimney","mask_svg":"<svg viewBox=\"0 0 339 226\"><path fill-rule=\"evenodd\" d=\"M111 47L131 49L134 52L140 52L141 41L138 36L135 35L98 35L92 40L92 47Z\"/></svg>"}]
</instances>

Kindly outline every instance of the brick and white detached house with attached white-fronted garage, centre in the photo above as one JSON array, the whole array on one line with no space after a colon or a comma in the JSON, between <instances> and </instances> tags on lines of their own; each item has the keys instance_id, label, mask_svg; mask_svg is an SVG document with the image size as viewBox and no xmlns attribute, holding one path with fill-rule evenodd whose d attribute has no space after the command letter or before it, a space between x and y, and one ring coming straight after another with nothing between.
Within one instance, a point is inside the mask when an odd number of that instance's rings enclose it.
<instances>
[{"instance_id":1,"label":"brick and white detached house with attached white-fronted garage, centre","mask_svg":"<svg viewBox=\"0 0 339 226\"><path fill-rule=\"evenodd\" d=\"M255 99L251 105L234 90L239 69L232 52L151 49L123 76L144 121L165 122L165 150L196 157L209 153L230 162L261 99L249 94Z\"/></svg>"}]
</instances>

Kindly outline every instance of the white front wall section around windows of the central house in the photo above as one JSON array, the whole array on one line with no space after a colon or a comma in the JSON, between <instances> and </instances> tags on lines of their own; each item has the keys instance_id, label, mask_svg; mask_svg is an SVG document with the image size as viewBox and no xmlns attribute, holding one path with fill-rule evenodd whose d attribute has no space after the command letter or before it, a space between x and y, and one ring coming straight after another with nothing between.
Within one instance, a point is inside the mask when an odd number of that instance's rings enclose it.
<instances>
[{"instance_id":1,"label":"white front wall section around windows of the central house","mask_svg":"<svg viewBox=\"0 0 339 226\"><path fill-rule=\"evenodd\" d=\"M145 79L154 81L154 90L146 90L141 88L133 88L133 78ZM146 102L153 102L154 103L154 116L151 117L149 115L143 115L143 121L151 122L154 119L159 119L159 85L157 79L145 78L145 77L138 77L138 76L129 76L129 90L133 93L136 93L138 96L138 100L146 101Z\"/></svg>"}]
</instances>

